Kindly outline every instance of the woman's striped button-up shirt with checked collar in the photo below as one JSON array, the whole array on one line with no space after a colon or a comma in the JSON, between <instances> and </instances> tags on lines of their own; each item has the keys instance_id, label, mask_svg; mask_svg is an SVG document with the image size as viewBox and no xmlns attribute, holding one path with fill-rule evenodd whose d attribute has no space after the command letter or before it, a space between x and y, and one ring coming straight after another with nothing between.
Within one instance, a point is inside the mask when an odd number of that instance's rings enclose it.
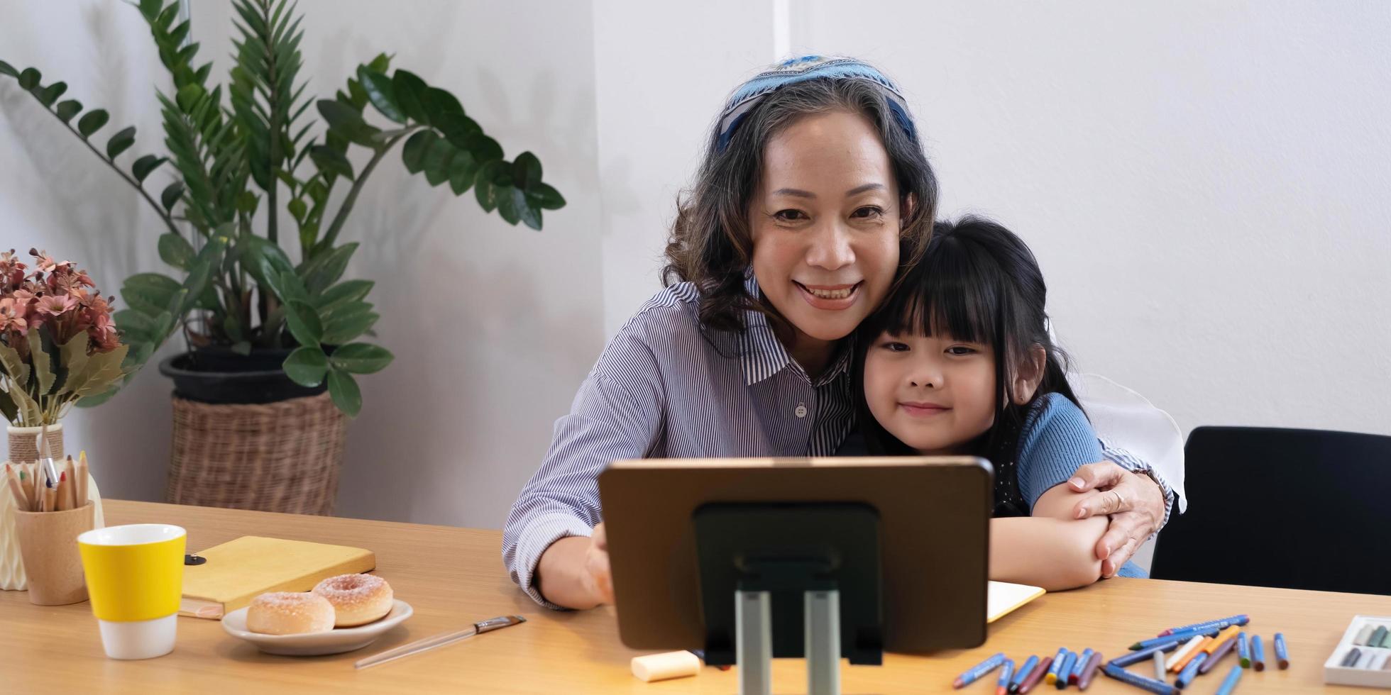
<instances>
[{"instance_id":1,"label":"woman's striped button-up shirt with checked collar","mask_svg":"<svg viewBox=\"0 0 1391 695\"><path fill-rule=\"evenodd\" d=\"M748 289L758 296L751 277ZM502 532L512 581L537 602L558 607L536 589L537 563L555 541L588 537L602 521L598 475L613 460L830 456L854 427L849 346L811 378L765 316L747 311L741 334L718 332L701 327L698 304L689 282L658 292L609 341L570 414L556 420L541 470ZM1106 456L1145 467L1125 452Z\"/></svg>"}]
</instances>

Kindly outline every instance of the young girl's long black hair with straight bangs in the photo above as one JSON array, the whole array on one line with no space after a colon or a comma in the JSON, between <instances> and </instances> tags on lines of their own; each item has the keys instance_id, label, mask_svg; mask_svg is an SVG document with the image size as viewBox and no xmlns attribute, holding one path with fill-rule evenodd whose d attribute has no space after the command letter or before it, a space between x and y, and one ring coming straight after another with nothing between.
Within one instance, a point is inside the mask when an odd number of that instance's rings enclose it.
<instances>
[{"instance_id":1,"label":"young girl's long black hair with straight bangs","mask_svg":"<svg viewBox=\"0 0 1391 695\"><path fill-rule=\"evenodd\" d=\"M906 271L883 304L857 331L851 374L857 379L857 416L869 453L917 453L881 427L865 402L865 354L885 332L929 336L944 332L958 341L990 346L999 388L995 425L975 443L974 453L997 468L1013 463L1020 430L1035 399L1061 393L1081 407L1067 384L1067 356L1049 338L1046 297L1047 286L1038 260L1013 232L979 217L936 222L922 259ZM1035 346L1047 354L1043 378L1032 399L1018 404L1013 375Z\"/></svg>"}]
</instances>

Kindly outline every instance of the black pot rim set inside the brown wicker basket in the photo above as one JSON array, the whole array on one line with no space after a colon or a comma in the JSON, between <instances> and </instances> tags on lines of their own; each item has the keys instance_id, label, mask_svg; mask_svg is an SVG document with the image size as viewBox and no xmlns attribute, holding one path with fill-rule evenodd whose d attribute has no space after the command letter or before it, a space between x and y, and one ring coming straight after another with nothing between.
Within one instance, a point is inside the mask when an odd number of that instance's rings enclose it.
<instances>
[{"instance_id":1,"label":"black pot rim set inside the brown wicker basket","mask_svg":"<svg viewBox=\"0 0 1391 695\"><path fill-rule=\"evenodd\" d=\"M323 384L306 388L289 381L281 364L291 352L198 348L161 361L160 374L174 379L175 396L200 403L278 403L327 391Z\"/></svg>"}]
</instances>

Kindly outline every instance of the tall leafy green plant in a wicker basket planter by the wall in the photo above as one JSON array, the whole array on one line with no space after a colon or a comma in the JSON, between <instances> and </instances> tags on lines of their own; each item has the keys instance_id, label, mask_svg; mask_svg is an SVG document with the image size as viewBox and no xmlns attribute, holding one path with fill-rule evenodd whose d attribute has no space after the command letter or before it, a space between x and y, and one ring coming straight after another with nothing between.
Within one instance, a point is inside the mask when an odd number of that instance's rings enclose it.
<instances>
[{"instance_id":1,"label":"tall leafy green plant in a wicker basket planter by the wall","mask_svg":"<svg viewBox=\"0 0 1391 695\"><path fill-rule=\"evenodd\" d=\"M31 93L166 227L159 253L182 278L127 278L125 309L114 316L129 346L124 382L174 332L189 346L161 364L175 381L166 496L328 513L345 416L362 407L356 377L392 360L363 339L378 318L367 302L373 282L342 278L359 246L342 234L371 172L401 145L409 172L456 196L472 190L485 211L533 229L565 199L542 181L534 154L506 160L453 95L391 71L385 54L359 65L332 99L306 96L302 17L287 0L232 1L235 64L225 89L209 82L210 63L195 64L199 44L189 43L191 24L178 21L177 3L138 7L172 79L172 89L157 92L164 154L118 164L135 145L134 126L99 147L93 136L108 121L104 110L60 100L67 85L45 85L32 67L0 61L0 76ZM369 117L369 104L380 120ZM310 107L327 124L323 135ZM351 156L359 153L367 160L355 167ZM161 167L172 168L174 179L147 189ZM342 189L346 195L332 196ZM298 261L287 249L298 250ZM120 385L83 404L111 398Z\"/></svg>"}]
</instances>

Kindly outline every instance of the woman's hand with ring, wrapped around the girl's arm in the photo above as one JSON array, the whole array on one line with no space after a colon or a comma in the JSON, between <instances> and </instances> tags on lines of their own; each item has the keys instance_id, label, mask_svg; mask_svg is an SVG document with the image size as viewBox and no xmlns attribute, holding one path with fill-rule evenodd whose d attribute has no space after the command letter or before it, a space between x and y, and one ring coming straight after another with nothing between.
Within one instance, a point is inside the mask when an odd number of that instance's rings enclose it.
<instances>
[{"instance_id":1,"label":"woman's hand with ring, wrapped around the girl's arm","mask_svg":"<svg viewBox=\"0 0 1391 695\"><path fill-rule=\"evenodd\" d=\"M1102 575L1114 577L1164 518L1164 492L1149 477L1116 463L1088 463L1067 481L1074 492L1091 492L1074 507L1074 518L1109 516L1106 535L1096 542Z\"/></svg>"}]
</instances>

